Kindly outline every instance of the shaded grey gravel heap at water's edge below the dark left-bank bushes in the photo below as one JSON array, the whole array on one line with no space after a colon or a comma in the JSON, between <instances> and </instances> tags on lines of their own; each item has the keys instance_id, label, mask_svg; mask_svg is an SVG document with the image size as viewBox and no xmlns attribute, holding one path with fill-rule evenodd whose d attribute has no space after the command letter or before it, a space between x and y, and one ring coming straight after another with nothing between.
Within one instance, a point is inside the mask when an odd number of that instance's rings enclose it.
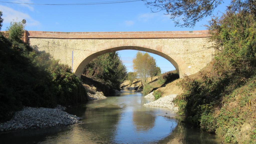
<instances>
[{"instance_id":1,"label":"shaded grey gravel heap at water's edge below the dark left-bank bushes","mask_svg":"<svg viewBox=\"0 0 256 144\"><path fill-rule=\"evenodd\" d=\"M22 111L17 111L14 117L7 122L0 123L0 131L29 129L29 128L46 128L59 125L70 125L81 123L82 119L76 115L70 115L62 106L56 108L32 108L24 107Z\"/></svg>"}]
</instances>

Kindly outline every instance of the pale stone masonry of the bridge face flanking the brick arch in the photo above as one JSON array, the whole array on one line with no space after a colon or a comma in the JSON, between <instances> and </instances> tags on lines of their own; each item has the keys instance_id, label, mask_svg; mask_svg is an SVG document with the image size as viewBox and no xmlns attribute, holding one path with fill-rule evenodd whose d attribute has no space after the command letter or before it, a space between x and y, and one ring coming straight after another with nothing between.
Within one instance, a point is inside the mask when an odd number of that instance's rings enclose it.
<instances>
[{"instance_id":1,"label":"pale stone masonry of the bridge face flanking the brick arch","mask_svg":"<svg viewBox=\"0 0 256 144\"><path fill-rule=\"evenodd\" d=\"M72 65L82 52L97 52L92 49L97 44L115 41L117 39L49 39L29 38L29 43L39 51L50 53L61 63ZM204 68L212 59L214 51L207 38L173 38L173 39L140 39L156 44L161 44L179 55L190 69L190 74Z\"/></svg>"}]
</instances>

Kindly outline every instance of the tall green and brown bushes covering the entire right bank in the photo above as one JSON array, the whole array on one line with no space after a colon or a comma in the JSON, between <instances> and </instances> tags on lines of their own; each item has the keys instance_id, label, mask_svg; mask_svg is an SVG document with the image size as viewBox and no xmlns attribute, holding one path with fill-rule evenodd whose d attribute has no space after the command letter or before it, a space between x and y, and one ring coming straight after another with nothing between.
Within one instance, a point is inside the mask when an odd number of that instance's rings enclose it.
<instances>
[{"instance_id":1,"label":"tall green and brown bushes covering the entire right bank","mask_svg":"<svg viewBox=\"0 0 256 144\"><path fill-rule=\"evenodd\" d=\"M197 77L184 76L175 103L186 121L225 142L256 143L255 15L247 8L213 17L208 26L216 55Z\"/></svg>"}]
</instances>

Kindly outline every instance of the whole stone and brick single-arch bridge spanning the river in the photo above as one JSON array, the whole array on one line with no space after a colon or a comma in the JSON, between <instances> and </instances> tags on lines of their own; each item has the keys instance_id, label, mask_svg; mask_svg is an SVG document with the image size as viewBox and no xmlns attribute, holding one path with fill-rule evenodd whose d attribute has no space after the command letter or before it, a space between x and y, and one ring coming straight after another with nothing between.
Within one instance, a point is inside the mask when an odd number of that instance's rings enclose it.
<instances>
[{"instance_id":1,"label":"whole stone and brick single-arch bridge spanning the river","mask_svg":"<svg viewBox=\"0 0 256 144\"><path fill-rule=\"evenodd\" d=\"M160 32L41 32L26 31L25 42L50 53L61 63L72 66L81 76L95 57L117 50L134 49L154 53L170 61L182 78L204 68L211 61L207 30ZM167 64L166 64L167 65Z\"/></svg>"}]
</instances>

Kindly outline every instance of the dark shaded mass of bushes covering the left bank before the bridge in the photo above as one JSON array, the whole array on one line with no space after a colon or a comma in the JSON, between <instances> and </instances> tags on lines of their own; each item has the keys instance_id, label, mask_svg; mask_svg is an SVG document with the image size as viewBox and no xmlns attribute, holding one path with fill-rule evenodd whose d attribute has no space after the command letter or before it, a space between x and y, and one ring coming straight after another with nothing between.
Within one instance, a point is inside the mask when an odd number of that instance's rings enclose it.
<instances>
[{"instance_id":1,"label":"dark shaded mass of bushes covering the left bank before the bridge","mask_svg":"<svg viewBox=\"0 0 256 144\"><path fill-rule=\"evenodd\" d=\"M0 34L0 122L23 106L71 105L87 100L78 77L68 65L45 52L36 52L20 38L23 24L11 23L9 37ZM16 36L15 36L16 35Z\"/></svg>"}]
</instances>

